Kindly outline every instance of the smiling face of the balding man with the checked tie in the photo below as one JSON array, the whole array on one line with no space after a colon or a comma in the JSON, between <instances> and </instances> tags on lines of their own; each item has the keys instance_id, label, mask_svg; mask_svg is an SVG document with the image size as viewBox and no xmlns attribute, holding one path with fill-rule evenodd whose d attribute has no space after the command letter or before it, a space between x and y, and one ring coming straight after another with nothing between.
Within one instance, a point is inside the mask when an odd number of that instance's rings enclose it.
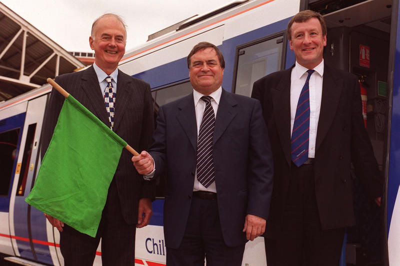
<instances>
[{"instance_id":1,"label":"smiling face of the balding man with the checked tie","mask_svg":"<svg viewBox=\"0 0 400 266\"><path fill-rule=\"evenodd\" d=\"M112 16L101 18L95 25L94 39L90 36L89 43L95 52L96 65L110 74L125 53L126 36L123 25Z\"/></svg>"}]
</instances>

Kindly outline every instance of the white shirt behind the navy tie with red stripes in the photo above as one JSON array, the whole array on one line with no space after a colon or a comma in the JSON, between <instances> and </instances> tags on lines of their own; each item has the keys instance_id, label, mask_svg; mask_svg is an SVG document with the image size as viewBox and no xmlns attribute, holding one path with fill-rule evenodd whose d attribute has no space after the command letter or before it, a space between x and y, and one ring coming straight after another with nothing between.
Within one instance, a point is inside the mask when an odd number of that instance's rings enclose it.
<instances>
[{"instance_id":1,"label":"white shirt behind the navy tie with red stripes","mask_svg":"<svg viewBox=\"0 0 400 266\"><path fill-rule=\"evenodd\" d=\"M322 62L313 68L309 79L309 141L308 141L308 158L315 157L315 141L316 129L318 127L319 111L321 109L322 97L322 81L323 81L323 59ZM298 97L305 80L307 79L307 68L298 64L291 70L290 77L290 132L293 131L294 118L296 116L296 108Z\"/></svg>"}]
</instances>

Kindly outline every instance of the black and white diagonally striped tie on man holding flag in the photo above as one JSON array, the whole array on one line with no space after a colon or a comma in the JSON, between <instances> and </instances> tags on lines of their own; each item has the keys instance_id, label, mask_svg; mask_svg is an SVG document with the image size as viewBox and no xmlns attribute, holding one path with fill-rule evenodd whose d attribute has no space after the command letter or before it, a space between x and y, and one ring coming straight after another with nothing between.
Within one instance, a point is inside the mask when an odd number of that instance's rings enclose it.
<instances>
[{"instance_id":1,"label":"black and white diagonally striped tie on man holding flag","mask_svg":"<svg viewBox=\"0 0 400 266\"><path fill-rule=\"evenodd\" d=\"M215 180L214 162L212 160L212 135L214 133L215 115L211 106L211 97L202 96L205 102L203 118L197 139L197 180L208 187Z\"/></svg>"}]
</instances>

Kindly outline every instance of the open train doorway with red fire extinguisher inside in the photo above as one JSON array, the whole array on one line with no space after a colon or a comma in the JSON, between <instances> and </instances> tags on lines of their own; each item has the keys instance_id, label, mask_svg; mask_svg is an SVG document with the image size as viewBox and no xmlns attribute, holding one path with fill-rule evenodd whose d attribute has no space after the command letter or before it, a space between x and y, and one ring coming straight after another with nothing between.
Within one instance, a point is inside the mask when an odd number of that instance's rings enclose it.
<instances>
[{"instance_id":1,"label":"open train doorway with red fire extinguisher inside","mask_svg":"<svg viewBox=\"0 0 400 266\"><path fill-rule=\"evenodd\" d=\"M302 0L326 21L325 63L359 76L366 130L383 179L381 207L354 175L356 226L340 265L400 265L399 0Z\"/></svg>"}]
</instances>

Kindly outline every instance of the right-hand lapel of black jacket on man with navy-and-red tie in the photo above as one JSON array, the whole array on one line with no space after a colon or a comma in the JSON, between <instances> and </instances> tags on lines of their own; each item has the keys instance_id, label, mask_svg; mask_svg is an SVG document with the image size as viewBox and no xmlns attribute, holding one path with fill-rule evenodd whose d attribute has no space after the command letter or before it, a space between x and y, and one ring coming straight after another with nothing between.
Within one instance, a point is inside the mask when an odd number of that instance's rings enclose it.
<instances>
[{"instance_id":1,"label":"right-hand lapel of black jacket on man with navy-and-red tie","mask_svg":"<svg viewBox=\"0 0 400 266\"><path fill-rule=\"evenodd\" d=\"M343 87L343 79L335 78L333 69L324 65L322 81L321 109L315 141L315 152L321 145L336 114Z\"/></svg>"}]
</instances>

